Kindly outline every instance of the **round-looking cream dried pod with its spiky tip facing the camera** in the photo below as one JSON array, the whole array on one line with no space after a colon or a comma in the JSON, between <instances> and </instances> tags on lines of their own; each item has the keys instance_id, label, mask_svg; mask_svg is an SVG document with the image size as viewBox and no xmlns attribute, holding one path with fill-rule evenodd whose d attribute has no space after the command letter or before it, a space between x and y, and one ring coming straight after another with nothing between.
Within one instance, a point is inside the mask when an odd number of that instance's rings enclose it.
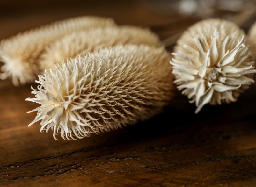
<instances>
[{"instance_id":1,"label":"round-looking cream dried pod with its spiky tip facing the camera","mask_svg":"<svg viewBox=\"0 0 256 187\"><path fill-rule=\"evenodd\" d=\"M235 102L254 83L254 58L244 36L232 22L209 19L188 28L177 41L170 62L174 83L195 102L195 113L208 103Z\"/></svg>"}]
</instances>

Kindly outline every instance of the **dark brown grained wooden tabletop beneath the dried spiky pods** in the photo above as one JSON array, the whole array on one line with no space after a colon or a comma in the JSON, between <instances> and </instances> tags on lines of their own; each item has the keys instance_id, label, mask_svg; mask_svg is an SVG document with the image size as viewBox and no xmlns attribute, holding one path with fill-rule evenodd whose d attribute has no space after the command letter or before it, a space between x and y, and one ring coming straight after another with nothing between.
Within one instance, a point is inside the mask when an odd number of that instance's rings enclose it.
<instances>
[{"instance_id":1,"label":"dark brown grained wooden tabletop beneath the dried spiky pods","mask_svg":"<svg viewBox=\"0 0 256 187\"><path fill-rule=\"evenodd\" d=\"M156 11L144 1L61 9L55 4L35 10L23 4L27 11L20 4L13 11L8 1L3 2L0 39L79 15L147 26L165 39L200 19ZM39 123L27 127L36 113L26 112L37 107L25 102L32 97L30 85L14 87L10 80L0 81L0 186L254 187L255 95L252 85L238 102L206 106L195 115L194 104L177 91L165 111L146 122L82 140L56 141L52 132L40 133Z\"/></svg>"}]
</instances>

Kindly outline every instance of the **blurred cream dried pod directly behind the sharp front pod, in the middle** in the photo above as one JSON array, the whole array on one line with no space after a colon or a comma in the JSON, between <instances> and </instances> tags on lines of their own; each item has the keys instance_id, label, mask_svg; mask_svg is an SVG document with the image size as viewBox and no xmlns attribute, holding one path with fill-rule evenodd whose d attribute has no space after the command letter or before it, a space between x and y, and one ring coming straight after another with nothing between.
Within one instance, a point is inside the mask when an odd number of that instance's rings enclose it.
<instances>
[{"instance_id":1,"label":"blurred cream dried pod directly behind the sharp front pod, in the middle","mask_svg":"<svg viewBox=\"0 0 256 187\"><path fill-rule=\"evenodd\" d=\"M103 47L126 44L145 44L159 47L158 36L148 29L135 26L105 27L74 32L50 45L40 59L42 72L63 58L75 57Z\"/></svg>"}]
</instances>

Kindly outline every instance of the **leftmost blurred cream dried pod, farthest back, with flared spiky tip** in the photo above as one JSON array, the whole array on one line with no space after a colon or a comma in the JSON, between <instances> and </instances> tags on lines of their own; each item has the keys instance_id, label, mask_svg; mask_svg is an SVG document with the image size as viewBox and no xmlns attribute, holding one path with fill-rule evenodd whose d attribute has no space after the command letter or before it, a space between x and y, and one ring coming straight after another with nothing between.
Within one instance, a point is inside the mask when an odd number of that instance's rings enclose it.
<instances>
[{"instance_id":1,"label":"leftmost blurred cream dried pod, farthest back, with flared spiky tip","mask_svg":"<svg viewBox=\"0 0 256 187\"><path fill-rule=\"evenodd\" d=\"M99 17L77 17L41 26L19 33L1 41L1 79L12 78L14 85L32 82L39 74L39 56L57 39L76 31L91 27L115 25L112 19Z\"/></svg>"}]
</instances>

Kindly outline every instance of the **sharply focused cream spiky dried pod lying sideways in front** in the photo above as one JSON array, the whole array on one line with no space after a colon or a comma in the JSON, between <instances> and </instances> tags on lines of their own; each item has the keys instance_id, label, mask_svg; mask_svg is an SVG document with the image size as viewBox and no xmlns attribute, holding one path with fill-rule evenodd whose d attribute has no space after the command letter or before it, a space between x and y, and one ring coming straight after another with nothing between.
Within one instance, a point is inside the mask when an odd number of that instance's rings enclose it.
<instances>
[{"instance_id":1,"label":"sharply focused cream spiky dried pod lying sideways in front","mask_svg":"<svg viewBox=\"0 0 256 187\"><path fill-rule=\"evenodd\" d=\"M40 104L29 126L76 139L146 120L172 98L170 54L163 47L103 48L63 60L39 76L27 98Z\"/></svg>"}]
</instances>

